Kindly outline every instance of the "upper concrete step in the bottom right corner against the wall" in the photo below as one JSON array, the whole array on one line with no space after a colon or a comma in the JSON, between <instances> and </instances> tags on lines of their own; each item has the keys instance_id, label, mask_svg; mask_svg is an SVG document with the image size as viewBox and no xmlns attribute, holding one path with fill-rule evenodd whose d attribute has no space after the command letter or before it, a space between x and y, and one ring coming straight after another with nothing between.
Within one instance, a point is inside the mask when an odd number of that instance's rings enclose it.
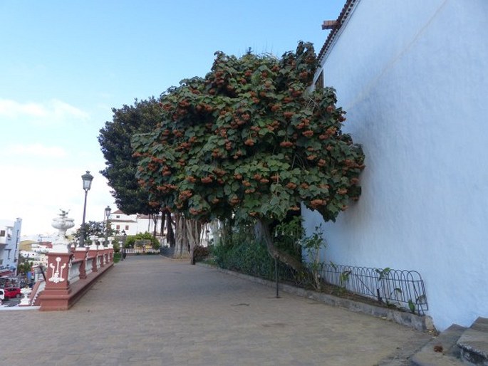
<instances>
[{"instance_id":1,"label":"upper concrete step in the bottom right corner against the wall","mask_svg":"<svg viewBox=\"0 0 488 366\"><path fill-rule=\"evenodd\" d=\"M462 333L457 346L460 347L463 360L472 365L488 366L488 318L477 318Z\"/></svg>"}]
</instances>

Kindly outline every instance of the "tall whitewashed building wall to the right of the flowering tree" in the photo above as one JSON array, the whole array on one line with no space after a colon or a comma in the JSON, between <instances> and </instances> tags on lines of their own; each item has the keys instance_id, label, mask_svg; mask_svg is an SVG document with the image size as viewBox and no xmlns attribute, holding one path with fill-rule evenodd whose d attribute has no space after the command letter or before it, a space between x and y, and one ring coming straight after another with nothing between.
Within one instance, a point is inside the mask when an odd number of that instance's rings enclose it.
<instances>
[{"instance_id":1,"label":"tall whitewashed building wall to the right of the flowering tree","mask_svg":"<svg viewBox=\"0 0 488 366\"><path fill-rule=\"evenodd\" d=\"M420 272L438 330L488 317L487 19L485 0L348 0L319 53L366 157L326 261Z\"/></svg>"}]
</instances>

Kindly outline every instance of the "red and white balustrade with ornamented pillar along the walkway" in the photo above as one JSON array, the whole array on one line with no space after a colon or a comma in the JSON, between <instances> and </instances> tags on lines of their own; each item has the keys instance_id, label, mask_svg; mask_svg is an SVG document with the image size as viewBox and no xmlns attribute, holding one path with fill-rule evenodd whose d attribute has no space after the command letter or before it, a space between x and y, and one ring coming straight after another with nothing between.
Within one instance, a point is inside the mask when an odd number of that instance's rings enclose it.
<instances>
[{"instance_id":1,"label":"red and white balustrade with ornamented pillar along the walkway","mask_svg":"<svg viewBox=\"0 0 488 366\"><path fill-rule=\"evenodd\" d=\"M113 267L113 246L93 244L73 249L59 246L48 254L46 285L31 293L31 303L40 310L68 310L95 280Z\"/></svg>"}]
</instances>

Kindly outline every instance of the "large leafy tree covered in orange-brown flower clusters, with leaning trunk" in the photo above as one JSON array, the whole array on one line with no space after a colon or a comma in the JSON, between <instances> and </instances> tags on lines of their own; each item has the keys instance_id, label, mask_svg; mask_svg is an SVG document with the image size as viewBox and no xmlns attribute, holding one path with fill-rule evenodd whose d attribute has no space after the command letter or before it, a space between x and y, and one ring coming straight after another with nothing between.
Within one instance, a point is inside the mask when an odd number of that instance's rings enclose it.
<instances>
[{"instance_id":1,"label":"large leafy tree covered in orange-brown flower clusters, with leaning trunk","mask_svg":"<svg viewBox=\"0 0 488 366\"><path fill-rule=\"evenodd\" d=\"M133 137L150 204L187 218L255 219L270 253L269 224L304 204L326 221L358 199L364 155L332 88L308 92L317 67L310 43L281 58L216 53L205 78L162 97L161 121Z\"/></svg>"}]
</instances>

